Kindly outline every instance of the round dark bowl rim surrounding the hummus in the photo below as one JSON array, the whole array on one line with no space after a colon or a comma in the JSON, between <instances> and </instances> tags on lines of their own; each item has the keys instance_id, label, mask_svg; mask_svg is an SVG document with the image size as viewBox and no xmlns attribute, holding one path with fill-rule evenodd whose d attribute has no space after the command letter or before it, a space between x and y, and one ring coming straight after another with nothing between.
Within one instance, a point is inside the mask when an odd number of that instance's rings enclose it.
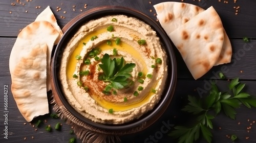
<instances>
[{"instance_id":1,"label":"round dark bowl rim surrounding the hummus","mask_svg":"<svg viewBox=\"0 0 256 143\"><path fill-rule=\"evenodd\" d=\"M165 90L162 94L161 100L159 103L155 106L155 108L145 115L141 116L138 120L121 124L121 125L108 125L108 124L99 124L95 123L88 118L83 117L81 114L79 114L67 101L65 95L63 94L61 90L60 81L58 78L59 75L59 63L61 61L62 52L63 49L66 47L68 41L71 39L71 37L74 35L74 33L87 21L92 19L97 19L106 15L115 15L115 14L123 14L131 17L138 18L148 25L150 25L156 32L158 37L160 38L161 42L164 45L164 50L167 54L167 65L168 65L168 79L166 80L166 86ZM121 130L129 130L132 128L139 127L140 125L145 125L143 128L146 128L150 125L152 125L166 110L168 107L176 86L176 78L177 78L177 70L176 70L176 59L173 51L172 44L170 42L170 39L165 34L163 29L150 17L146 16L145 14L133 10L128 9L124 7L114 7L114 6L105 6L105 7L98 7L92 10L89 10L73 20L71 20L65 28L63 28L63 36L61 40L59 41L55 53L53 55L52 60L52 83L54 84L53 87L55 88L55 92L60 99L63 106L67 108L67 110L75 116L78 120L93 126L95 128L101 129L101 130L112 130L112 131L121 131Z\"/></svg>"}]
</instances>

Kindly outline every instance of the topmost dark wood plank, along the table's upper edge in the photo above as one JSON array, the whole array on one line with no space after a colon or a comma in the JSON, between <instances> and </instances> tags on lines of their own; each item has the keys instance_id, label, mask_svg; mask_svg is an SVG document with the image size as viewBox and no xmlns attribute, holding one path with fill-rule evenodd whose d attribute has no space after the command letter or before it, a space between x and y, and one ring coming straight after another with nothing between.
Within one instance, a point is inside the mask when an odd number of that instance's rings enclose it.
<instances>
[{"instance_id":1,"label":"topmost dark wood plank, along the table's upper edge","mask_svg":"<svg viewBox=\"0 0 256 143\"><path fill-rule=\"evenodd\" d=\"M72 18L81 13L80 10L86 11L95 6L104 6L104 5L116 5L116 6L124 6L138 9L139 11L145 13L153 19L156 19L155 10L153 5L163 2L163 0L152 1L152 4L149 1L88 1L81 2L79 0L75 0L72 2L69 1L57 1L57 2L48 2L44 1L32 1L26 2L25 0L20 1L25 5L18 4L16 1L2 1L0 2L0 37L10 37L17 36L20 29L26 27L29 23L33 22L36 16L44 10L48 5L51 6L57 21L62 28L70 21ZM180 2L177 1L176 2ZM11 3L14 3L15 6L12 6ZM230 38L242 38L244 36L255 38L256 26L255 26L255 16L256 9L251 7L256 6L256 2L253 0L249 1L237 1L237 3L229 2L229 4L225 4L223 2L218 1L206 1L202 0L198 1L187 1L186 3L191 3L197 6L200 6L204 9L214 6L217 12L219 13L224 28L227 31L227 34ZM84 4L87 4L87 9L84 9ZM37 8L36 6L40 6L41 8ZM72 6L76 6L73 8ZM233 7L240 6L240 11L238 15L234 13L236 10ZM60 11L56 11L56 7L60 7ZM75 9L75 11L73 11ZM150 12L152 10L152 12ZM12 12L10 14L10 11ZM26 11L28 11L26 13ZM67 13L63 13L66 11ZM60 18L60 16L66 17L65 19Z\"/></svg>"}]
</instances>

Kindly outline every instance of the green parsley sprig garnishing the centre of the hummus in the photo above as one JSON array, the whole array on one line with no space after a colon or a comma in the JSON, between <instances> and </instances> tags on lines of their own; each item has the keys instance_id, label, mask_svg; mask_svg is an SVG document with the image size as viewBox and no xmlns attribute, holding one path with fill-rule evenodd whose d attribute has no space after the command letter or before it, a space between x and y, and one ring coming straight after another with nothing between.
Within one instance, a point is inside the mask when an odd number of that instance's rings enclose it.
<instances>
[{"instance_id":1,"label":"green parsley sprig garnishing the centre of the hummus","mask_svg":"<svg viewBox=\"0 0 256 143\"><path fill-rule=\"evenodd\" d=\"M123 57L120 60L116 58L111 59L109 54L104 54L101 62L102 64L99 64L99 67L103 70L104 74L99 76L99 79L109 82L103 93L109 93L112 88L122 89L132 82L130 79L132 75L130 73L133 71L135 63L124 64Z\"/></svg>"}]
</instances>

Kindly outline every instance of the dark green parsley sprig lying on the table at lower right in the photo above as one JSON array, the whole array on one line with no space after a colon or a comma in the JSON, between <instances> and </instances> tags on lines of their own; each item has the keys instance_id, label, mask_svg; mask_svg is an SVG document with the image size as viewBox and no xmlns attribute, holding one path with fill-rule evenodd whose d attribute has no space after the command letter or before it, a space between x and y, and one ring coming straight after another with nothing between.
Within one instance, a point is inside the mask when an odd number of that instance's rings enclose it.
<instances>
[{"instance_id":1,"label":"dark green parsley sprig lying on the table at lower right","mask_svg":"<svg viewBox=\"0 0 256 143\"><path fill-rule=\"evenodd\" d=\"M228 117L235 119L237 114L235 109L239 108L241 104L248 108L256 107L256 99L252 98L250 94L242 92L244 87L245 84L240 83L239 79L235 78L228 84L228 92L220 91L215 83L211 83L211 89L207 97L197 99L188 96L189 103L182 110L197 115L197 123L193 127L176 126L174 127L175 130L170 132L169 135L178 138L178 143L195 142L200 135L207 142L211 142L211 129L213 129L211 120L221 110ZM212 115L212 113L215 114Z\"/></svg>"}]
</instances>

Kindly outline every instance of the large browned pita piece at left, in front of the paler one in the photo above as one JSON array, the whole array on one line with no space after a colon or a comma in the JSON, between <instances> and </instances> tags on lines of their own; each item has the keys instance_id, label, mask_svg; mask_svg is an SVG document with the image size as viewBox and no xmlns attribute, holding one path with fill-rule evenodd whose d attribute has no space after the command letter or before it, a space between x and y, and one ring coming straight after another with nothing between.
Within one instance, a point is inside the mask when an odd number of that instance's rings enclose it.
<instances>
[{"instance_id":1,"label":"large browned pita piece at left, in front of the paler one","mask_svg":"<svg viewBox=\"0 0 256 143\"><path fill-rule=\"evenodd\" d=\"M49 113L46 83L50 77L47 69L50 69L51 53L48 50L52 49L58 35L50 22L32 22L18 34L11 51L12 93L28 122L35 116Z\"/></svg>"}]
</instances>

